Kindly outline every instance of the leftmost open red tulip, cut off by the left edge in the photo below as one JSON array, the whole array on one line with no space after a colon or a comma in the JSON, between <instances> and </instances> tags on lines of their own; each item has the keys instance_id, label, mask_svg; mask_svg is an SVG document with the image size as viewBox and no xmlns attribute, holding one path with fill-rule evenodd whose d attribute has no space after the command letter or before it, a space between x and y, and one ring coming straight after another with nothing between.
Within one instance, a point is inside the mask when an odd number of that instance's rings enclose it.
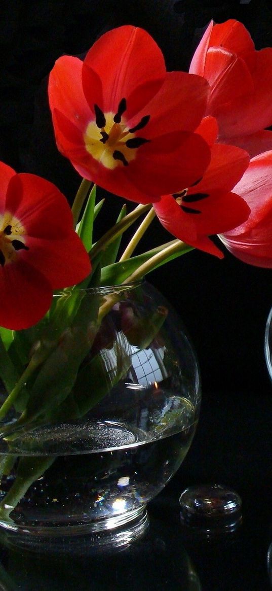
<instances>
[{"instance_id":1,"label":"leftmost open red tulip, cut off by the left edge","mask_svg":"<svg viewBox=\"0 0 272 591\"><path fill-rule=\"evenodd\" d=\"M70 207L52 183L0 163L0 325L25 329L50 307L53 290L90 273Z\"/></svg>"}]
</instances>

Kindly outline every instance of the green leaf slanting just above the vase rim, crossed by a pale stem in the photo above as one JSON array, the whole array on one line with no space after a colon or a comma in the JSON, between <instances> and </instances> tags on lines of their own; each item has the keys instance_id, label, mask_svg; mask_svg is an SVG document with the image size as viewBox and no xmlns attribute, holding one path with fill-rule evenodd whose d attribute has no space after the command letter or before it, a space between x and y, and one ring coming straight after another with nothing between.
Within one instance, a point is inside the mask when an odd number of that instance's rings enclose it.
<instances>
[{"instance_id":1,"label":"green leaf slanting just above the vase rim, crossed by a pale stem","mask_svg":"<svg viewBox=\"0 0 272 591\"><path fill-rule=\"evenodd\" d=\"M134 271L136 271L144 262L149 261L153 255L161 252L165 248L165 245L157 246L150 251L143 252L143 254L132 256L126 261L116 262L107 267L101 269L101 285L120 285L124 280L127 279ZM185 254L192 249L192 246L187 246L182 252L175 252L168 256L163 262L160 262L153 269L161 267L166 262L172 261L173 259ZM153 270L152 269L152 270Z\"/></svg>"}]
</instances>

